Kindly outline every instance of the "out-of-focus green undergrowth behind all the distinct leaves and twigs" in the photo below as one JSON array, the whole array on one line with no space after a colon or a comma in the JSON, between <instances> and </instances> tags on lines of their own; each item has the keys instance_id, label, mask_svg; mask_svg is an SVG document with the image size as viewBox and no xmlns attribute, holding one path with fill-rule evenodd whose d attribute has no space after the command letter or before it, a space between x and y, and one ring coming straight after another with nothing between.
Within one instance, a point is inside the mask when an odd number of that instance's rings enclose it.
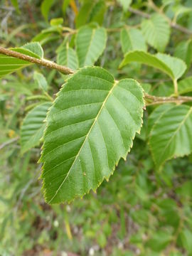
<instances>
[{"instance_id":1,"label":"out-of-focus green undergrowth behind all the distinct leaves and twigs","mask_svg":"<svg viewBox=\"0 0 192 256\"><path fill-rule=\"evenodd\" d=\"M75 28L83 1L47 1L46 7L42 2L1 0L0 43L22 46L36 37L46 58L55 61L56 51L68 35L50 26L50 20L63 18L63 26ZM155 2L161 5L161 1ZM99 18L83 22L99 21L106 28L118 28L141 21L141 16L124 11L117 1L103 3ZM133 6L151 12L146 1L133 1ZM171 16L171 7L167 15ZM179 19L188 29L191 21L191 13ZM185 39L187 35L173 31L166 52L173 54ZM70 46L74 46L74 36ZM164 75L138 64L119 70L122 58L119 32L108 33L107 48L96 65L117 79L149 83L154 95L169 95L169 80ZM58 92L65 76L55 70L36 70L45 75L50 92ZM33 67L0 81L0 255L192 255L192 156L173 159L155 170L145 142L146 118L153 107L145 112L142 134L135 139L127 161L120 161L109 182L70 205L48 206L38 179L40 149L21 155L18 142L23 117L36 104L27 97L38 92Z\"/></svg>"}]
</instances>

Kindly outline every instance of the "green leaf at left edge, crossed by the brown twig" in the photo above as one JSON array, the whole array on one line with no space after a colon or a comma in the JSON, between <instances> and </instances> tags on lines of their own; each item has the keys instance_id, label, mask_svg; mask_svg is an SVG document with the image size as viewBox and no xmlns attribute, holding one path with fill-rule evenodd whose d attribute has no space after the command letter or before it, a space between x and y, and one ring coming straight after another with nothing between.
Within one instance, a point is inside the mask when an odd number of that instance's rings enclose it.
<instances>
[{"instance_id":1,"label":"green leaf at left edge, crossed by the brown twig","mask_svg":"<svg viewBox=\"0 0 192 256\"><path fill-rule=\"evenodd\" d=\"M43 49L39 43L27 43L21 48L11 48L18 53L23 53L34 58L42 58ZM26 60L20 60L18 58L10 57L8 55L0 54L0 78L4 75L15 72L18 69L25 68L28 65L31 65Z\"/></svg>"}]
</instances>

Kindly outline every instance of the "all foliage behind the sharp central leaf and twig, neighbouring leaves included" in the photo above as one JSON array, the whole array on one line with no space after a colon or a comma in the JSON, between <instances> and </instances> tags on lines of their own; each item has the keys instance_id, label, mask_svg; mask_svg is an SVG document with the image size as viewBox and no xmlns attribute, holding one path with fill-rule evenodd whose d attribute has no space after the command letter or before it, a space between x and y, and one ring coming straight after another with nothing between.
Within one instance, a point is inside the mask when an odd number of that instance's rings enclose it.
<instances>
[{"instance_id":1,"label":"all foliage behind the sharp central leaf and twig, neighbouring leaves included","mask_svg":"<svg viewBox=\"0 0 192 256\"><path fill-rule=\"evenodd\" d=\"M174 95L178 80L178 94L191 96L191 8L179 0L2 0L1 46L73 70L95 63L157 97ZM21 48L27 42L33 43ZM0 55L5 64L10 58ZM23 60L11 64L0 73L0 254L191 255L191 103L148 102L142 132L110 182L70 205L48 206L36 164L40 124L68 75ZM187 114L185 139L164 146ZM159 127L168 131L170 123L175 130L159 137Z\"/></svg>"}]
</instances>

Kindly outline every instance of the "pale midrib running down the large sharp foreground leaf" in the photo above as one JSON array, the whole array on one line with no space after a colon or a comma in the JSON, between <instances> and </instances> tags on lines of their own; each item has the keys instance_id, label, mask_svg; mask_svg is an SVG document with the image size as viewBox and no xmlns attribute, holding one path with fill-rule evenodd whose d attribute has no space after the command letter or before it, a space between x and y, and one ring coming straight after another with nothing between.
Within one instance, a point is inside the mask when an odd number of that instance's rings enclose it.
<instances>
[{"instance_id":1,"label":"pale midrib running down the large sharp foreground leaf","mask_svg":"<svg viewBox=\"0 0 192 256\"><path fill-rule=\"evenodd\" d=\"M51 201L53 201L53 199L55 198L55 196L58 194L58 191L60 191L60 188L63 186L63 184L65 183L66 179L68 178L70 171L73 169L73 166L75 164L75 161L78 159L78 156L80 155L80 151L82 150L83 146L85 145L85 142L87 141L87 138L90 135L90 132L92 131L92 128L95 126L95 123L97 122L98 117L100 116L100 113L102 112L103 107L105 107L105 104L108 100L108 98L110 97L110 95L112 94L112 91L114 90L114 87L118 84L118 81L114 81L114 84L111 88L111 90L109 91L109 93L107 94L107 97L105 98L104 102L102 102L102 106L100 108L100 111L97 113L97 116L95 117L94 122L92 123L92 126L90 127L89 132L87 133L84 142L82 142L82 146L80 147L80 150L78 151L78 154L75 156L75 159L73 161L73 164L70 166L70 169L68 171L67 176L63 179L62 183L60 184L60 186L58 187L57 191L55 192L54 196L50 199L50 201L48 203L50 203Z\"/></svg>"}]
</instances>

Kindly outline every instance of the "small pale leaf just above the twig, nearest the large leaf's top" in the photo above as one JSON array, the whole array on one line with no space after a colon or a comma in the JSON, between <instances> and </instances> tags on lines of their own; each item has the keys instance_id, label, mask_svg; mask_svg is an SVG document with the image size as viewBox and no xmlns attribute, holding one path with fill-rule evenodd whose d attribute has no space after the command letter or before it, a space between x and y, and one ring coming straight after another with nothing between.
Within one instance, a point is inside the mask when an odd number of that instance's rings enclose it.
<instances>
[{"instance_id":1,"label":"small pale leaf just above the twig, nearest the large leaf's top","mask_svg":"<svg viewBox=\"0 0 192 256\"><path fill-rule=\"evenodd\" d=\"M61 50L59 50L57 63L59 65L65 65L73 70L77 70L79 66L77 53L67 44L66 46L63 46Z\"/></svg>"}]
</instances>

